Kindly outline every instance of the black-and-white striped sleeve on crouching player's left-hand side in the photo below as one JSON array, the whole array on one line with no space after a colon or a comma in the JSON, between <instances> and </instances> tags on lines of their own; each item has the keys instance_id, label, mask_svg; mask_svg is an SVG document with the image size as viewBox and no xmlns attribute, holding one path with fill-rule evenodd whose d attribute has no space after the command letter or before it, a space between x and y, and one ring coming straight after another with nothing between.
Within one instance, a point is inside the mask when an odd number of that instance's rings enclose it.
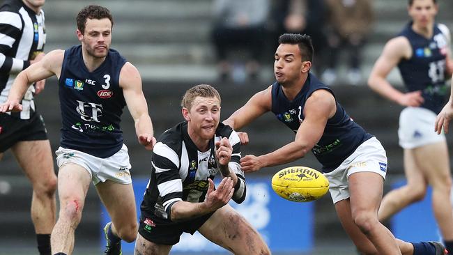
<instances>
[{"instance_id":1,"label":"black-and-white striped sleeve on crouching player's left-hand side","mask_svg":"<svg viewBox=\"0 0 453 255\"><path fill-rule=\"evenodd\" d=\"M174 202L183 200L183 182L179 176L179 161L178 154L166 144L158 142L153 148L151 164L155 169L156 184L165 210ZM167 214L170 215L168 211Z\"/></svg>"}]
</instances>

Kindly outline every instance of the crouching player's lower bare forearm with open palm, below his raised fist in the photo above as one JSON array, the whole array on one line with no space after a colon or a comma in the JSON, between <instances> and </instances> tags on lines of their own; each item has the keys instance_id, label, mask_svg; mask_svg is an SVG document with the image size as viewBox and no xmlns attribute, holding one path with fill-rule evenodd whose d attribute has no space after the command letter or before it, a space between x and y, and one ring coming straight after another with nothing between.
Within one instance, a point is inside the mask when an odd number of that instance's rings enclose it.
<instances>
[{"instance_id":1,"label":"crouching player's lower bare forearm with open palm, below his raised fist","mask_svg":"<svg viewBox=\"0 0 453 255\"><path fill-rule=\"evenodd\" d=\"M208 182L209 187L204 202L191 203L187 201L177 201L171 206L171 220L173 222L206 215L209 212L214 212L215 210L222 208L222 206L230 201L234 192L233 180L231 180L231 178L223 178L215 190L213 180L208 178Z\"/></svg>"}]
</instances>

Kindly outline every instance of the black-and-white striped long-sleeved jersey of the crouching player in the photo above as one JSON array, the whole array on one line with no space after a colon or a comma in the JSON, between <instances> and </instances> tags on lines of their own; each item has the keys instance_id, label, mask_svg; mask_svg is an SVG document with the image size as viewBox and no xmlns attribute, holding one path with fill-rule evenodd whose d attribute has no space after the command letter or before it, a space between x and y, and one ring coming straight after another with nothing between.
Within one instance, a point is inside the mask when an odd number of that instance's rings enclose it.
<instances>
[{"instance_id":1,"label":"black-and-white striped long-sleeved jersey of the crouching player","mask_svg":"<svg viewBox=\"0 0 453 255\"><path fill-rule=\"evenodd\" d=\"M171 221L171 206L176 201L203 202L208 191L208 178L214 179L220 169L215 160L215 144L227 137L233 153L229 169L238 176L233 200L242 203L245 199L245 177L240 169L240 139L228 125L219 124L215 137L210 140L210 149L201 152L187 133L187 122L179 123L165 131L153 148L151 178L141 203L144 217L160 217Z\"/></svg>"}]
</instances>

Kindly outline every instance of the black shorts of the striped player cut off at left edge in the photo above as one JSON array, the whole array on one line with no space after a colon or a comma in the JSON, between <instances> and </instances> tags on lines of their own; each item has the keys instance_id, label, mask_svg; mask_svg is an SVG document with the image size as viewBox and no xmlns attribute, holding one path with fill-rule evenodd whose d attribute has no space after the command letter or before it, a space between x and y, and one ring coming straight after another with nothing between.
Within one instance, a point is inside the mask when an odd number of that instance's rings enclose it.
<instances>
[{"instance_id":1,"label":"black shorts of the striped player cut off at left edge","mask_svg":"<svg viewBox=\"0 0 453 255\"><path fill-rule=\"evenodd\" d=\"M34 113L28 120L0 114L0 153L19 141L47 140L43 117Z\"/></svg>"}]
</instances>

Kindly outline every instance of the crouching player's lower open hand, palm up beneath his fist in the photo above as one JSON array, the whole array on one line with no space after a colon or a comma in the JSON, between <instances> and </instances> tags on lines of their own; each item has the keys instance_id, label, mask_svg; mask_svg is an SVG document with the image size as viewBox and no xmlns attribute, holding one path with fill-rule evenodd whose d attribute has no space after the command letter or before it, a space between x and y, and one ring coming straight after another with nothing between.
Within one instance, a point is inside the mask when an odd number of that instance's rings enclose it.
<instances>
[{"instance_id":1,"label":"crouching player's lower open hand, palm up beneath his fist","mask_svg":"<svg viewBox=\"0 0 453 255\"><path fill-rule=\"evenodd\" d=\"M219 184L219 187L215 190L213 180L208 178L208 182L209 187L204 203L206 203L206 206L210 208L211 211L215 211L226 205L230 201L231 196L233 196L233 180L229 177L223 178Z\"/></svg>"}]
</instances>

